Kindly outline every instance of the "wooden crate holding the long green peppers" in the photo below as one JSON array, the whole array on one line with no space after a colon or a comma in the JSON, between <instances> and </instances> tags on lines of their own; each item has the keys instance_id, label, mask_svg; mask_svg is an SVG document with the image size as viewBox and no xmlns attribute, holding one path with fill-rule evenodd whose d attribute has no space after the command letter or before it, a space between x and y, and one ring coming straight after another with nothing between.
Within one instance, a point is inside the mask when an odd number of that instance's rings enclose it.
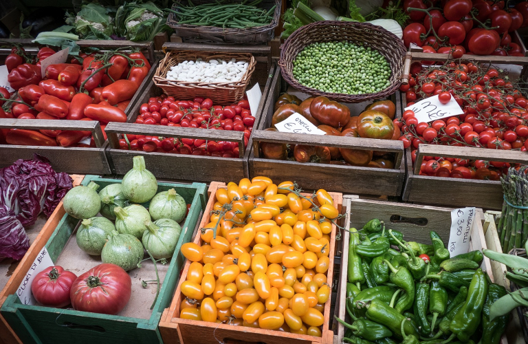
<instances>
[{"instance_id":1,"label":"wooden crate holding the long green peppers","mask_svg":"<svg viewBox=\"0 0 528 344\"><path fill-rule=\"evenodd\" d=\"M423 244L430 244L429 231L436 231L443 239L444 244L448 244L451 228L451 208L438 208L434 206L420 206L415 204L383 202L375 200L361 200L354 195L345 195L343 197L343 209L346 215L345 221L349 221L350 228L363 228L364 224L371 219L377 218L385 222L388 228L399 230L405 235L406 241L417 241ZM486 241L482 224L484 214L482 209L476 209L476 216L470 232L470 250L482 250L486 248ZM349 233L344 232L342 236L343 252L341 261L341 276L339 290L339 317L340 319L348 318L346 312L346 290L347 290L347 266L349 252ZM488 272L492 281L496 280L492 264L489 258L484 257L481 268ZM344 326L338 323L337 338L334 343L342 343L344 336ZM504 341L502 344L507 344Z\"/></svg>"}]
</instances>

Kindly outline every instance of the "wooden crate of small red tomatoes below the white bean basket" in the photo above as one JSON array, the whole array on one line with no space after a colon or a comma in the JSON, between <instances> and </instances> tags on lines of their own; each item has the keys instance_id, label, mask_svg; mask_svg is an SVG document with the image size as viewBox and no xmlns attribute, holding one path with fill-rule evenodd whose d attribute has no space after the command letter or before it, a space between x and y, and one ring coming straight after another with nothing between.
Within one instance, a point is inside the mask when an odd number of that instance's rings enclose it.
<instances>
[{"instance_id":1,"label":"wooden crate of small red tomatoes below the white bean basket","mask_svg":"<svg viewBox=\"0 0 528 344\"><path fill-rule=\"evenodd\" d=\"M173 43L176 44L176 43ZM191 50L196 47L189 43L181 43L184 48ZM168 45L168 43L166 43ZM175 45L177 46L177 45ZM174 47L171 45L171 47ZM233 51L234 48L230 48ZM208 48L208 50L212 50ZM222 50L223 51L223 50ZM266 60L267 61L267 60ZM262 62L260 63L263 64ZM259 65L259 63L257 63ZM267 64L264 63L265 66ZM273 69L270 73L273 72ZM254 82L254 78L252 78ZM266 76L265 84L260 83L263 87L261 102L259 109L264 107L268 89L270 88L271 78ZM129 171L132 167L131 156L143 155L149 170L158 178L170 178L171 180L192 180L195 182L212 182L214 180L220 182L229 182L230 180L240 180L248 177L248 156L252 144L252 135L248 142L248 147L244 147L244 136L242 131L224 131L224 130L208 130L182 127L168 127L162 125L138 125L133 124L135 118L140 114L140 107L142 103L146 103L148 98L159 96L163 93L162 89L154 85L152 80L149 80L148 86L144 93L131 103L132 107L128 109L129 116L127 123L110 123L105 131L109 139L109 147L107 148L107 156L111 161L113 173L122 175ZM254 128L260 120L261 111L253 114L255 119ZM119 149L119 136L122 133L131 133L137 135L155 135L165 137L177 138L201 138L203 140L214 141L230 141L239 144L239 157L237 158L221 158L214 156L201 155L183 155L173 153L157 153L144 151L128 151ZM229 171L229 173L225 173Z\"/></svg>"}]
</instances>

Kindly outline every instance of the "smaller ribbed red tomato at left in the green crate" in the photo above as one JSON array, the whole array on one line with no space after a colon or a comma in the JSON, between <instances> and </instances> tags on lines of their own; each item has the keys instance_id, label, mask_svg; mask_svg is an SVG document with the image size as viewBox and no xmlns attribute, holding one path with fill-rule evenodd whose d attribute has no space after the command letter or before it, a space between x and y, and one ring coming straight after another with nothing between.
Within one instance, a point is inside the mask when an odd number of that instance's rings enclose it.
<instances>
[{"instance_id":1,"label":"smaller ribbed red tomato at left in the green crate","mask_svg":"<svg viewBox=\"0 0 528 344\"><path fill-rule=\"evenodd\" d=\"M76 279L73 272L61 266L50 266L34 277L31 291L42 305L62 308L69 305L69 290Z\"/></svg>"}]
</instances>

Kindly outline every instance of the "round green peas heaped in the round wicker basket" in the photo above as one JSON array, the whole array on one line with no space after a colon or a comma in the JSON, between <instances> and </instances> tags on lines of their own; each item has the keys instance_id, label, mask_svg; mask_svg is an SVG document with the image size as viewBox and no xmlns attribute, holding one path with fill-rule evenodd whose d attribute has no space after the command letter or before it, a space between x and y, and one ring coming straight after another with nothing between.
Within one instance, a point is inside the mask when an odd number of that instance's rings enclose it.
<instances>
[{"instance_id":1,"label":"round green peas heaped in the round wicker basket","mask_svg":"<svg viewBox=\"0 0 528 344\"><path fill-rule=\"evenodd\" d=\"M370 94L391 85L386 58L348 41L307 45L296 56L293 73L301 85L332 93Z\"/></svg>"}]
</instances>

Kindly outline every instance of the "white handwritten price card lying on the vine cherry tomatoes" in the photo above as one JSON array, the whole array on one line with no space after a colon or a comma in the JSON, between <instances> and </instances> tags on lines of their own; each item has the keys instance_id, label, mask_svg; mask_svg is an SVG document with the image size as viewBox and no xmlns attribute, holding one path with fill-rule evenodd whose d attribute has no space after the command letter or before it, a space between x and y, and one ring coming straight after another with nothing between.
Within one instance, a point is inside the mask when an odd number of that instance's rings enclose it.
<instances>
[{"instance_id":1,"label":"white handwritten price card lying on the vine cherry tomatoes","mask_svg":"<svg viewBox=\"0 0 528 344\"><path fill-rule=\"evenodd\" d=\"M418 103L406 107L404 110L412 110L418 122L432 122L441 118L461 115L464 113L459 103L453 97L447 104L440 103L438 96L432 96L420 100Z\"/></svg>"}]
</instances>

